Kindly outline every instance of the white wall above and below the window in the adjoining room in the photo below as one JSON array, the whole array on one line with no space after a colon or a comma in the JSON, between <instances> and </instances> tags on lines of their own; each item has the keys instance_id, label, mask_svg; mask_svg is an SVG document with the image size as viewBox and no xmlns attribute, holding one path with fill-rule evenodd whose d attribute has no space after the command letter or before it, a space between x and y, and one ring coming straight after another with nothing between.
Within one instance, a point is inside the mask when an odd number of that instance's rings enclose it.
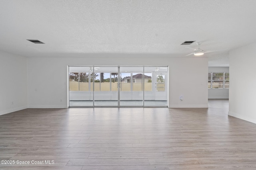
<instances>
[{"instance_id":1,"label":"white wall above and below the window in the adjoining room","mask_svg":"<svg viewBox=\"0 0 256 170\"><path fill-rule=\"evenodd\" d=\"M209 67L208 72L229 72L229 67ZM208 89L208 99L228 99L229 89Z\"/></svg>"}]
</instances>

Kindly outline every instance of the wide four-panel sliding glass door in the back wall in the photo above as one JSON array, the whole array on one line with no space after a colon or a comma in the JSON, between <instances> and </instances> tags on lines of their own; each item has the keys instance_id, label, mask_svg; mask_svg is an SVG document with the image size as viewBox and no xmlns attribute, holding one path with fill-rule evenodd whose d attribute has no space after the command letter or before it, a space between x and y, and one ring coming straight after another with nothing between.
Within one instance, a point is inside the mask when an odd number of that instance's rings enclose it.
<instances>
[{"instance_id":1,"label":"wide four-panel sliding glass door in the back wall","mask_svg":"<svg viewBox=\"0 0 256 170\"><path fill-rule=\"evenodd\" d=\"M166 107L167 66L69 66L70 107Z\"/></svg>"}]
</instances>

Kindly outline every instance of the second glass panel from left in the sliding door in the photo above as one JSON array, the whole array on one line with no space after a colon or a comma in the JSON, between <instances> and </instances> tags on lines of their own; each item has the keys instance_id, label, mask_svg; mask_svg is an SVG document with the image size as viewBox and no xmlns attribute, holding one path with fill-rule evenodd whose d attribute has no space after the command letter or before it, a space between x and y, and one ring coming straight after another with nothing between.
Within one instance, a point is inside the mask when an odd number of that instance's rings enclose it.
<instances>
[{"instance_id":1,"label":"second glass panel from left in the sliding door","mask_svg":"<svg viewBox=\"0 0 256 170\"><path fill-rule=\"evenodd\" d=\"M118 106L118 67L94 67L94 106Z\"/></svg>"}]
</instances>

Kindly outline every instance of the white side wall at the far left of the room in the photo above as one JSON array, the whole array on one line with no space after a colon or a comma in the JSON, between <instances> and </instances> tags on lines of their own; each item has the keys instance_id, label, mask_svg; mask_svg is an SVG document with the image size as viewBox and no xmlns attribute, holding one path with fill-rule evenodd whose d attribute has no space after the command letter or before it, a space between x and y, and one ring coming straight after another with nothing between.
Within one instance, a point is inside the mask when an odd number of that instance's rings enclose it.
<instances>
[{"instance_id":1,"label":"white side wall at the far left of the room","mask_svg":"<svg viewBox=\"0 0 256 170\"><path fill-rule=\"evenodd\" d=\"M0 51L0 115L27 108L26 58Z\"/></svg>"}]
</instances>

